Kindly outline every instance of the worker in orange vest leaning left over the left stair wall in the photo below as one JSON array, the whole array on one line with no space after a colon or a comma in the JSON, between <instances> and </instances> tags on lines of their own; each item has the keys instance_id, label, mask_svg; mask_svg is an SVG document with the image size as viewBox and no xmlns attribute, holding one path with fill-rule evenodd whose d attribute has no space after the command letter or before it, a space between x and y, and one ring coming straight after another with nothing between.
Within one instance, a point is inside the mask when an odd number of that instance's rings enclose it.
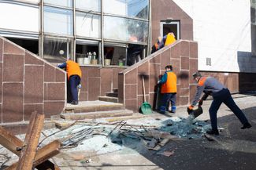
<instances>
[{"instance_id":1,"label":"worker in orange vest leaning left over the left stair wall","mask_svg":"<svg viewBox=\"0 0 256 170\"><path fill-rule=\"evenodd\" d=\"M72 95L71 104L78 104L78 91L77 86L80 85L80 79L82 77L82 71L80 65L72 60L67 60L65 63L58 65L60 68L65 68L68 74L68 83L70 85L70 91Z\"/></svg>"}]
</instances>

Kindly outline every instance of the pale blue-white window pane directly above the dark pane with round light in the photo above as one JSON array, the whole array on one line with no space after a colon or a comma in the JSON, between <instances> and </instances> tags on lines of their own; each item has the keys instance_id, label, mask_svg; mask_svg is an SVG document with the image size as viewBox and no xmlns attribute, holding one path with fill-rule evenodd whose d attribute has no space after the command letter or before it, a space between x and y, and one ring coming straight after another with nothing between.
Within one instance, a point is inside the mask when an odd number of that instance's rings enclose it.
<instances>
[{"instance_id":1,"label":"pale blue-white window pane directly above the dark pane with round light","mask_svg":"<svg viewBox=\"0 0 256 170\"><path fill-rule=\"evenodd\" d=\"M73 34L72 10L45 6L44 31L54 34Z\"/></svg>"}]
</instances>

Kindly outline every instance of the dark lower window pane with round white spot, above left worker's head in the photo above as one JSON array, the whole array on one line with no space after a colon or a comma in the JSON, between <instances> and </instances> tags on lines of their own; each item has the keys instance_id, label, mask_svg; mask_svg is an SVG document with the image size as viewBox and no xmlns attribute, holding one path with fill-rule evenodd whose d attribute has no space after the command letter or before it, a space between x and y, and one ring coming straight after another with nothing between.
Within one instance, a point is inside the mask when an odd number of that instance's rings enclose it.
<instances>
[{"instance_id":1,"label":"dark lower window pane with round white spot, above left worker's head","mask_svg":"<svg viewBox=\"0 0 256 170\"><path fill-rule=\"evenodd\" d=\"M43 58L51 63L62 63L71 56L72 42L68 39L44 38Z\"/></svg>"}]
</instances>

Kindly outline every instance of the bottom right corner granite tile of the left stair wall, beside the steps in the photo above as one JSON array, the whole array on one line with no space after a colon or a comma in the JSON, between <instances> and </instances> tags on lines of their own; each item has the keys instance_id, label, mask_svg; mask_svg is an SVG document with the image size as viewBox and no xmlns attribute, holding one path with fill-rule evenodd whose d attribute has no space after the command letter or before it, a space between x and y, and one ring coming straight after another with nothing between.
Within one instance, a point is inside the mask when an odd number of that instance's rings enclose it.
<instances>
[{"instance_id":1,"label":"bottom right corner granite tile of the left stair wall, beside the steps","mask_svg":"<svg viewBox=\"0 0 256 170\"><path fill-rule=\"evenodd\" d=\"M64 107L65 102L45 102L43 105L45 118L50 118L51 115L60 114Z\"/></svg>"}]
</instances>

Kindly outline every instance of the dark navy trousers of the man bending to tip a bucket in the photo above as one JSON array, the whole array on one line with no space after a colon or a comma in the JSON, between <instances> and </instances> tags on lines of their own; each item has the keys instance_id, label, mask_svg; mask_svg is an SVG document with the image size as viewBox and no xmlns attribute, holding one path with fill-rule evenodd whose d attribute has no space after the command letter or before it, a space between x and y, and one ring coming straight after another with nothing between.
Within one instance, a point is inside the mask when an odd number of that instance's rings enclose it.
<instances>
[{"instance_id":1,"label":"dark navy trousers of the man bending to tip a bucket","mask_svg":"<svg viewBox=\"0 0 256 170\"><path fill-rule=\"evenodd\" d=\"M210 123L212 128L217 128L217 110L221 107L221 103L224 103L239 119L242 124L248 122L247 118L243 114L243 111L236 105L228 89L222 89L220 92L213 93L213 102L210 105Z\"/></svg>"}]
</instances>

